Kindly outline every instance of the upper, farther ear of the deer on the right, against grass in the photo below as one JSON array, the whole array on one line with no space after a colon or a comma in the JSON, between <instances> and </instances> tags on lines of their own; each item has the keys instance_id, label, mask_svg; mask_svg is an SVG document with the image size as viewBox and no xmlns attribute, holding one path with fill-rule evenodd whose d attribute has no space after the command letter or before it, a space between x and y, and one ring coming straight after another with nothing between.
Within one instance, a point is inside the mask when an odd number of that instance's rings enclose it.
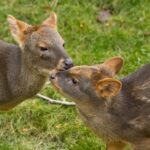
<instances>
[{"instance_id":1,"label":"upper, farther ear of the deer on the right, against grass","mask_svg":"<svg viewBox=\"0 0 150 150\"><path fill-rule=\"evenodd\" d=\"M110 70L112 70L113 76L117 74L123 66L123 58L113 57L109 60L106 60L104 63Z\"/></svg>"}]
</instances>

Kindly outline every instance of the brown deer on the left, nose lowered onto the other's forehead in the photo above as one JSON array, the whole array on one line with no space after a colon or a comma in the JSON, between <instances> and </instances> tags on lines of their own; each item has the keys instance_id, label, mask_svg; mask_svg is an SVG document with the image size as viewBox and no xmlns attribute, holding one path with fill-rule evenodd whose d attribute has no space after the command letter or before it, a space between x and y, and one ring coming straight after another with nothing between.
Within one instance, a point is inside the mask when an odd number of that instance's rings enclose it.
<instances>
[{"instance_id":1,"label":"brown deer on the left, nose lowered onto the other's forehead","mask_svg":"<svg viewBox=\"0 0 150 150\"><path fill-rule=\"evenodd\" d=\"M39 26L8 16L19 46L0 41L0 110L9 110L41 90L53 69L72 66L51 15Z\"/></svg>"}]
</instances>

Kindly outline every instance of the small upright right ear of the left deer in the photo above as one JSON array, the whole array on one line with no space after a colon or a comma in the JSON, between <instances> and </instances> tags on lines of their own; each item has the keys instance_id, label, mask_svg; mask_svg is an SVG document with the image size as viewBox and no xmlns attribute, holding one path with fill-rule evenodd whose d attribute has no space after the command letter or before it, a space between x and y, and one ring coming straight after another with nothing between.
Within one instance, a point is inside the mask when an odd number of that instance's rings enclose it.
<instances>
[{"instance_id":1,"label":"small upright right ear of the left deer","mask_svg":"<svg viewBox=\"0 0 150 150\"><path fill-rule=\"evenodd\" d=\"M45 21L43 21L42 25L46 25L57 30L57 15L52 12L50 16Z\"/></svg>"}]
</instances>

